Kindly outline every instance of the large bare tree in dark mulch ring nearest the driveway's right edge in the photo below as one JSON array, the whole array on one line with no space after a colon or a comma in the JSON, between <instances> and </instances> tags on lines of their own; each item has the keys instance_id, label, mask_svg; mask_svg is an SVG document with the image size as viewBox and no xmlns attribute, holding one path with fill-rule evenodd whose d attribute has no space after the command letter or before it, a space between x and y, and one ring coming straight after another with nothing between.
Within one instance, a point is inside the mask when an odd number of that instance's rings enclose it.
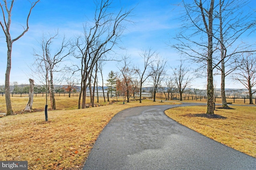
<instances>
[{"instance_id":1,"label":"large bare tree in dark mulch ring nearest the driveway's right edge","mask_svg":"<svg viewBox=\"0 0 256 170\"><path fill-rule=\"evenodd\" d=\"M183 1L185 16L182 31L176 36L180 44L172 45L182 54L187 55L192 61L207 66L207 114L214 114L214 86L213 63L214 34L213 22L216 18L214 12L214 0L194 0L192 4ZM189 35L187 35L188 33ZM199 37L198 37L199 36ZM201 36L201 37L200 37ZM216 47L215 47L216 48Z\"/></svg>"}]
</instances>

